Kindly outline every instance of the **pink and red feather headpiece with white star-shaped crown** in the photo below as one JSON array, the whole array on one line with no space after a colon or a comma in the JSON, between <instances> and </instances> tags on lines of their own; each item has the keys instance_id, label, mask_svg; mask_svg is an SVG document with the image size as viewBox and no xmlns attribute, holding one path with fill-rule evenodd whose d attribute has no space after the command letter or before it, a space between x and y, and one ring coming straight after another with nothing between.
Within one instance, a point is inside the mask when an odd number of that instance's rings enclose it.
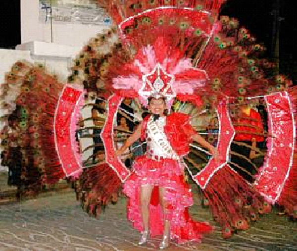
<instances>
[{"instance_id":1,"label":"pink and red feather headpiece with white star-shaped crown","mask_svg":"<svg viewBox=\"0 0 297 251\"><path fill-rule=\"evenodd\" d=\"M160 37L154 45L140 50L132 63L125 65L128 75L124 73L112 79L113 88L134 90L146 105L150 96L165 97L170 103L176 95L192 95L196 88L202 87L207 79L205 71L194 68L189 58L177 60L178 53L171 58L160 53L160 50L168 51L165 43Z\"/></svg>"}]
</instances>

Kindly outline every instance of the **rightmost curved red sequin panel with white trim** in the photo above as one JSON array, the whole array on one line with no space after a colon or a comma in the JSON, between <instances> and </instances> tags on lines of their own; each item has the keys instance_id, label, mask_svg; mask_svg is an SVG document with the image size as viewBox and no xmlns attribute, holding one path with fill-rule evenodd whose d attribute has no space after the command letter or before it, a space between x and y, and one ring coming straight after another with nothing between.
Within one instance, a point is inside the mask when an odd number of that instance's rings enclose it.
<instances>
[{"instance_id":1,"label":"rightmost curved red sequin panel with white trim","mask_svg":"<svg viewBox=\"0 0 297 251\"><path fill-rule=\"evenodd\" d=\"M259 169L255 188L269 202L275 203L288 178L293 161L295 124L287 93L265 97L269 111L268 156Z\"/></svg>"}]
</instances>

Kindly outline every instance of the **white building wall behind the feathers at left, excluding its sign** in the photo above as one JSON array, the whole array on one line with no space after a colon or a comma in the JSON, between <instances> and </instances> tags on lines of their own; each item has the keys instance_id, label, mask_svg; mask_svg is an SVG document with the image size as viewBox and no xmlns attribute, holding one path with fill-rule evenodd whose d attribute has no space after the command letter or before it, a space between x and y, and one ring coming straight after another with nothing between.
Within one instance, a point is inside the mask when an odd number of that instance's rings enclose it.
<instances>
[{"instance_id":1,"label":"white building wall behind the feathers at left, excluding its sign","mask_svg":"<svg viewBox=\"0 0 297 251\"><path fill-rule=\"evenodd\" d=\"M58 2L63 11L65 4L69 2L88 6L89 0L53 0L53 2ZM53 11L53 18L55 18L57 11L59 11L58 7ZM69 13L69 5L64 9ZM85 13L84 9L81 10L79 10L80 15L82 12ZM94 5L91 6L90 11L90 16L94 16ZM45 22L41 18L40 13L40 0L21 0L22 44L16 47L17 50L0 49L0 84L4 82L5 73L9 72L11 66L18 60L41 63L45 65L46 70L50 74L57 75L60 82L66 83L67 77L70 75L70 67L73 65L73 58L76 57L90 38L96 37L103 29L108 29L109 27L109 24L104 23L107 17L103 14L98 16L96 22L93 21L86 24L86 22L81 22L81 17L79 20L75 19L69 22L59 22L56 20L50 22L50 19ZM61 15L63 16L63 13ZM86 16L88 17L88 15ZM10 93L11 95L9 95L8 99L14 100L17 93L14 91ZM8 113L10 113L9 110L0 108L0 116ZM90 115L90 110L83 111L84 117L90 117ZM0 130L3 126L4 120L0 120ZM90 139L88 142L83 143L84 148L89 144L93 144ZM88 151L85 154L88 155L90 153L91 151ZM0 166L0 170L1 168Z\"/></svg>"}]
</instances>

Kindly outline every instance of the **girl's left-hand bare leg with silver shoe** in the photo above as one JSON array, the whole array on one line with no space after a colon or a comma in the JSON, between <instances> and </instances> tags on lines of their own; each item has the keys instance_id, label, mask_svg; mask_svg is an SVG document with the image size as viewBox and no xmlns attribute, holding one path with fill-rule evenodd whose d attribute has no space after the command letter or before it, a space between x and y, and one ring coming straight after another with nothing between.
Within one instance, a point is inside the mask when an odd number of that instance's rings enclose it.
<instances>
[{"instance_id":1,"label":"girl's left-hand bare leg with silver shoe","mask_svg":"<svg viewBox=\"0 0 297 251\"><path fill-rule=\"evenodd\" d=\"M143 220L144 231L142 237L139 241L139 245L143 245L148 241L149 235L149 201L151 196L151 191L153 189L152 185L142 185L141 186L141 195L140 195L140 203L141 203L141 214Z\"/></svg>"}]
</instances>

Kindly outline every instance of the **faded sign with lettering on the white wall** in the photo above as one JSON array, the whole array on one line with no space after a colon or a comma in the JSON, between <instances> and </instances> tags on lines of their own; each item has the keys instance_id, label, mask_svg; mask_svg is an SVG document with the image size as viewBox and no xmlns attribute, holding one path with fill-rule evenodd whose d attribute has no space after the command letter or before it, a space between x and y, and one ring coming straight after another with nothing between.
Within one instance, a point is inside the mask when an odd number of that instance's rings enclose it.
<instances>
[{"instance_id":1,"label":"faded sign with lettering on the white wall","mask_svg":"<svg viewBox=\"0 0 297 251\"><path fill-rule=\"evenodd\" d=\"M111 19L90 0L39 0L39 22L108 26Z\"/></svg>"}]
</instances>

